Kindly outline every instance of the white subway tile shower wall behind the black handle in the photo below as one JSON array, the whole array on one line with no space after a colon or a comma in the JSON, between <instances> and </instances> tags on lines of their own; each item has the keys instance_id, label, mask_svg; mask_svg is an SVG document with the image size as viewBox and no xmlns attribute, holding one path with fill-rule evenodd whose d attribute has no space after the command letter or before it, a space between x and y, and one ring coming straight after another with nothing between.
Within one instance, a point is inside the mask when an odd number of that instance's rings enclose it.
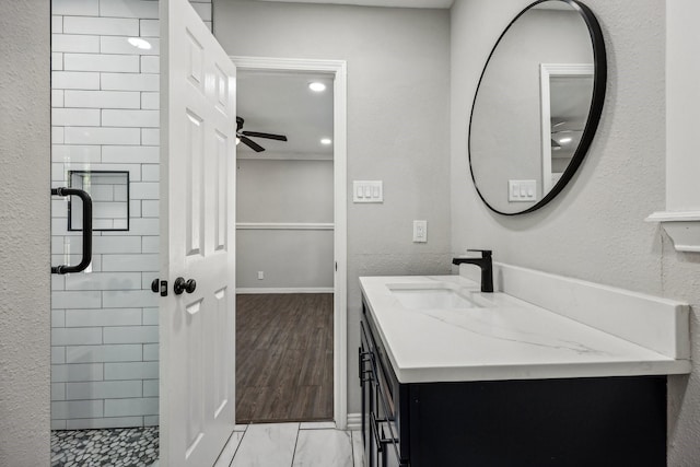
<instances>
[{"instance_id":1,"label":"white subway tile shower wall behind the black handle","mask_svg":"<svg viewBox=\"0 0 700 467\"><path fill-rule=\"evenodd\" d=\"M211 0L190 2L211 30ZM69 171L128 171L130 185L129 230L95 232L89 272L51 278L51 429L154 425L159 2L51 0L51 187ZM65 199L51 201L51 235L54 265L80 261L82 232L68 231Z\"/></svg>"}]
</instances>

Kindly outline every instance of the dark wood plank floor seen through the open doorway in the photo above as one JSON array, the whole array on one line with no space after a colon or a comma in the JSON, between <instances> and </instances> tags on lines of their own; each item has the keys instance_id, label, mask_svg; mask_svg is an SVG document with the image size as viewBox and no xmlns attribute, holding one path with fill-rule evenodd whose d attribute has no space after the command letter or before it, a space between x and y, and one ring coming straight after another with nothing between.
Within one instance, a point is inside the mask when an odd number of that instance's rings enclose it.
<instances>
[{"instance_id":1,"label":"dark wood plank floor seen through the open doorway","mask_svg":"<svg viewBox=\"0 0 700 467\"><path fill-rule=\"evenodd\" d=\"M236 297L236 422L332 420L332 294Z\"/></svg>"}]
</instances>

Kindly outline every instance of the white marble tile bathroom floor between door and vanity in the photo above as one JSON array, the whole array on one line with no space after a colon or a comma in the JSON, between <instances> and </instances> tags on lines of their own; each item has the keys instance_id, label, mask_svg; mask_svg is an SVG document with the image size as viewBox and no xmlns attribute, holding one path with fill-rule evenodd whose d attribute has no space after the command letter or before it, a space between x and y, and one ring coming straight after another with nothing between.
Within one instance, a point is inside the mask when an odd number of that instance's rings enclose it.
<instances>
[{"instance_id":1,"label":"white marble tile bathroom floor between door and vanity","mask_svg":"<svg viewBox=\"0 0 700 467\"><path fill-rule=\"evenodd\" d=\"M240 424L214 464L287 466L363 467L361 432L336 430L332 422Z\"/></svg>"}]
</instances>

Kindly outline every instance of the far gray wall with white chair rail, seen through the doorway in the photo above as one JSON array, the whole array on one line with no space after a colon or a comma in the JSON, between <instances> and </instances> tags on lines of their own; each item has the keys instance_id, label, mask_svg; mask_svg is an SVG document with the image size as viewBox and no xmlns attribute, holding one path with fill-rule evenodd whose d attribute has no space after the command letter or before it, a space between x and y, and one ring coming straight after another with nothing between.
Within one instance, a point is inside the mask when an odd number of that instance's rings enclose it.
<instances>
[{"instance_id":1,"label":"far gray wall with white chair rail, seen through the doorway","mask_svg":"<svg viewBox=\"0 0 700 467\"><path fill-rule=\"evenodd\" d=\"M334 231L318 225L334 222L332 168L331 160L237 161L236 219L258 226L236 232L236 289L332 289Z\"/></svg>"}]
</instances>

